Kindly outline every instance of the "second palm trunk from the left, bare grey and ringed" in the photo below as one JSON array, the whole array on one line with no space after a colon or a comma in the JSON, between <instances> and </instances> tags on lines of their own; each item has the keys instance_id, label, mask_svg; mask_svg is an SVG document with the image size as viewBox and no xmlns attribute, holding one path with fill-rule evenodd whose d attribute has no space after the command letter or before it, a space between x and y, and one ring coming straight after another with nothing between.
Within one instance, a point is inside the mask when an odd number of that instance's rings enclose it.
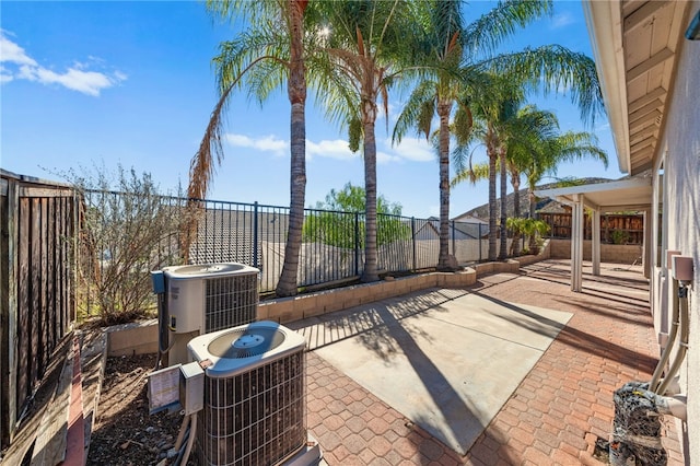
<instances>
[{"instance_id":1,"label":"second palm trunk from the left, bare grey and ringed","mask_svg":"<svg viewBox=\"0 0 700 466\"><path fill-rule=\"evenodd\" d=\"M376 249L376 141L374 123L376 105L370 100L362 101L362 121L364 128L364 270L360 280L363 283L377 281Z\"/></svg>"}]
</instances>

